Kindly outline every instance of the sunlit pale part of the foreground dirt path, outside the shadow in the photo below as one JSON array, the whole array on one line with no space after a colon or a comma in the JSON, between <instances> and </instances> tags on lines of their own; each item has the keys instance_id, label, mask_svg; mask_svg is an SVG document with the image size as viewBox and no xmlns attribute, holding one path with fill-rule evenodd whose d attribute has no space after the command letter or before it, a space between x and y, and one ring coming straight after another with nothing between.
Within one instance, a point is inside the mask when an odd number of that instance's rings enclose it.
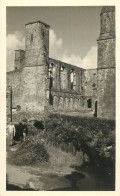
<instances>
[{"instance_id":1,"label":"sunlit pale part of the foreground dirt path, outside the shadow","mask_svg":"<svg viewBox=\"0 0 120 196\"><path fill-rule=\"evenodd\" d=\"M7 180L12 185L21 189L52 190L57 188L70 187L71 183L64 176L72 172L71 168L64 168L62 171L40 168L7 165ZM13 188L14 188L13 187Z\"/></svg>"}]
</instances>

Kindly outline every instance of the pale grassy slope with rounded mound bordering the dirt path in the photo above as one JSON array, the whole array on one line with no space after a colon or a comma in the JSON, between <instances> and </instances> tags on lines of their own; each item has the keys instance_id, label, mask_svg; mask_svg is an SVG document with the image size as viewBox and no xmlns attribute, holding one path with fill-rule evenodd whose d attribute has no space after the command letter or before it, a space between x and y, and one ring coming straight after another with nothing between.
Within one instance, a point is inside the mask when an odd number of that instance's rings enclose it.
<instances>
[{"instance_id":1,"label":"pale grassy slope with rounded mound bordering the dirt path","mask_svg":"<svg viewBox=\"0 0 120 196\"><path fill-rule=\"evenodd\" d=\"M44 131L38 130L34 126L28 126L29 135L26 141L14 146L15 151L8 151L8 163L15 165L33 165L63 168L72 165L82 164L82 153L75 156L70 152L65 152L51 143L48 143L44 137Z\"/></svg>"}]
</instances>

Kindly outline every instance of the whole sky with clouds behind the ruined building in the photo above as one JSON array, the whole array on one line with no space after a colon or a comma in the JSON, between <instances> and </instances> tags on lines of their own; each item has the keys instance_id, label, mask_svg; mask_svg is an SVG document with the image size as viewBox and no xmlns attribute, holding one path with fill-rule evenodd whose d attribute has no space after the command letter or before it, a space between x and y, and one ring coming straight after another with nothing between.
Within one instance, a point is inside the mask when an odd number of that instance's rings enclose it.
<instances>
[{"instance_id":1,"label":"whole sky with clouds behind the ruined building","mask_svg":"<svg viewBox=\"0 0 120 196\"><path fill-rule=\"evenodd\" d=\"M14 69L14 50L25 49L25 24L50 25L49 57L85 69L97 67L101 6L7 7L7 71Z\"/></svg>"}]
</instances>

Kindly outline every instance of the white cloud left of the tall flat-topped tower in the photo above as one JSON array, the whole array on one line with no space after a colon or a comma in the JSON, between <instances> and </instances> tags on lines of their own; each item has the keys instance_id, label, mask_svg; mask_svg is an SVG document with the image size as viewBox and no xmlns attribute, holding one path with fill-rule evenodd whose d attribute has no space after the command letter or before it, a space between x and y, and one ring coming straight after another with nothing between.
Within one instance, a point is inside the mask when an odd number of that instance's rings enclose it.
<instances>
[{"instance_id":1,"label":"white cloud left of the tall flat-topped tower","mask_svg":"<svg viewBox=\"0 0 120 196\"><path fill-rule=\"evenodd\" d=\"M15 51L25 48L25 38L23 35L16 31L14 34L7 35L7 71L14 69Z\"/></svg>"}]
</instances>

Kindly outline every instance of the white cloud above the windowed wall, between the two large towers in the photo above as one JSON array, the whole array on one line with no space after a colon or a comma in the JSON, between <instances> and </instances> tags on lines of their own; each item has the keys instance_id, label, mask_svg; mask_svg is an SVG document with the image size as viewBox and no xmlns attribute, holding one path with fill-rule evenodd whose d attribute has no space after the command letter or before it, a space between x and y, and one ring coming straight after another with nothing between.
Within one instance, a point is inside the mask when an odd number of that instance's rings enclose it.
<instances>
[{"instance_id":1,"label":"white cloud above the windowed wall, between the two large towers","mask_svg":"<svg viewBox=\"0 0 120 196\"><path fill-rule=\"evenodd\" d=\"M63 62L76 65L84 69L97 68L97 47L92 46L84 58L74 53L67 54L67 50L63 49L62 38L57 38L54 30L50 30L50 57L59 59Z\"/></svg>"}]
</instances>

